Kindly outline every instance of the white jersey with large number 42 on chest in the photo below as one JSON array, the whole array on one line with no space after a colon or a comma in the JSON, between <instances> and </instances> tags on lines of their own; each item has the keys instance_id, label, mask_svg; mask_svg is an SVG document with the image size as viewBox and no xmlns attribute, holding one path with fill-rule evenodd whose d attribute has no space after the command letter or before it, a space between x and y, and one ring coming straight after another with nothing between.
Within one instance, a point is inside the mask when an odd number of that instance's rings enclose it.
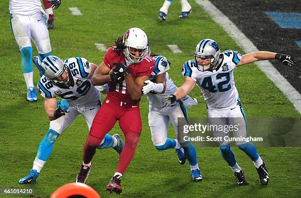
<instances>
[{"instance_id":1,"label":"white jersey with large number 42 on chest","mask_svg":"<svg viewBox=\"0 0 301 198\"><path fill-rule=\"evenodd\" d=\"M215 70L208 71L200 71L195 60L188 60L183 65L182 75L196 81L209 106L233 107L239 98L233 72L241 57L240 53L227 50L220 54Z\"/></svg>"}]
</instances>

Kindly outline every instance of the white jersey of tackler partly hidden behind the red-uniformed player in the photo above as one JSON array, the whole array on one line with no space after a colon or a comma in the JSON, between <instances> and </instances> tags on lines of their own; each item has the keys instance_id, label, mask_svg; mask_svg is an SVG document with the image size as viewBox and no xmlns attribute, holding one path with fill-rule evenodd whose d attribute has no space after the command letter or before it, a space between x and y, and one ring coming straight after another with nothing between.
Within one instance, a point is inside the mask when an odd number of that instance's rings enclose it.
<instances>
[{"instance_id":1,"label":"white jersey of tackler partly hidden behind the red-uniformed player","mask_svg":"<svg viewBox=\"0 0 301 198\"><path fill-rule=\"evenodd\" d=\"M149 92L146 94L150 105L152 107L164 107L162 103L162 99L164 96L173 94L177 86L174 82L169 78L167 71L169 70L169 63L167 62L166 57L163 56L152 56L152 59L155 61L155 66L153 72L151 73L150 80L155 83L155 78L157 75L165 73L166 74L166 89L164 93L154 93Z\"/></svg>"}]
</instances>

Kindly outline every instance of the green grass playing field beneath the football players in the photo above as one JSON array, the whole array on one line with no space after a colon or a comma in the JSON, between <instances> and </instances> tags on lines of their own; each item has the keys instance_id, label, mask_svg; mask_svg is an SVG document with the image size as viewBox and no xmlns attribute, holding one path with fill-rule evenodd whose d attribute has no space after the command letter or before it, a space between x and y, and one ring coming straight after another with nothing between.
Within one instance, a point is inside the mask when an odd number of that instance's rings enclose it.
<instances>
[{"instance_id":1,"label":"green grass playing field beneath the football players","mask_svg":"<svg viewBox=\"0 0 301 198\"><path fill-rule=\"evenodd\" d=\"M79 116L56 141L53 152L35 184L21 186L20 178L29 173L37 147L49 127L43 98L37 103L25 100L26 85L21 69L21 56L10 30L9 0L0 1L0 189L31 187L35 197L50 197L61 185L74 182L80 169L83 145L88 127ZM243 54L226 32L213 22L193 0L193 12L188 20L178 19L181 5L175 1L169 9L168 20L157 20L163 0L63 0L55 11L56 28L50 30L52 55L63 59L85 57L100 64L104 52L94 43L107 47L131 27L139 27L148 35L151 51L164 55L172 62L169 71L175 84L183 82L182 64L193 59L197 43L206 37L216 40L221 51L232 49ZM82 16L73 16L68 7L78 7ZM167 44L177 44L182 54L173 54ZM37 55L33 46L33 55ZM236 86L247 117L300 117L294 106L254 64L235 71ZM34 68L34 84L39 80ZM206 105L196 87L189 94L199 104L188 111L189 117L206 117ZM197 147L199 166L204 181L190 179L188 163L179 165L176 153L170 149L157 151L151 142L148 126L148 101L141 101L143 131L136 155L122 179L124 197L299 197L301 195L300 147L258 147L266 161L271 180L261 186L251 160L233 148L239 165L244 169L248 186L237 186L236 178L220 156L218 147ZM122 134L116 125L110 132ZM252 132L249 132L250 134ZM264 131L263 131L264 133ZM173 129L170 137L175 137ZM121 135L122 138L123 134ZM256 144L255 144L256 145ZM113 149L97 151L87 184L101 197L114 196L105 187L115 172L118 155ZM299 196L298 196L299 195ZM3 195L0 195L3 196ZM13 196L8 196L13 197Z\"/></svg>"}]
</instances>

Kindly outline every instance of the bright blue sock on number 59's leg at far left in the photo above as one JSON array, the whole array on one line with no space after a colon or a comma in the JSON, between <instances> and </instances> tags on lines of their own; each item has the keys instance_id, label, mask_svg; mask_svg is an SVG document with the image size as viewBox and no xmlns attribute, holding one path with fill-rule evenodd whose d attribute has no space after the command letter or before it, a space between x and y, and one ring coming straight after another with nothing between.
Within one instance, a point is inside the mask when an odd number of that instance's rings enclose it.
<instances>
[{"instance_id":1,"label":"bright blue sock on number 59's leg at far left","mask_svg":"<svg viewBox=\"0 0 301 198\"><path fill-rule=\"evenodd\" d=\"M56 131L49 129L47 131L46 136L44 139L41 141L38 152L36 154L36 158L46 161L47 158L50 156L53 148L53 144L56 141L56 139L60 136L59 133Z\"/></svg>"}]
</instances>

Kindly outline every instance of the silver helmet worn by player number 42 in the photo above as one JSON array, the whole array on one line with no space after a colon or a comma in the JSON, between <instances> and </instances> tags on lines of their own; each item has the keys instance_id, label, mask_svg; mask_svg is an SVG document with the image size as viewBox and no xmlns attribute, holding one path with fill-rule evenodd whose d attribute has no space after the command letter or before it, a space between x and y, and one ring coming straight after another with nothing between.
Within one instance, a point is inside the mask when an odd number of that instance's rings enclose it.
<instances>
[{"instance_id":1,"label":"silver helmet worn by player number 42","mask_svg":"<svg viewBox=\"0 0 301 198\"><path fill-rule=\"evenodd\" d=\"M216 41L212 39L201 40L195 48L194 57L200 71L215 69L218 64L220 50ZM198 58L211 58L210 64L200 64Z\"/></svg>"}]
</instances>

